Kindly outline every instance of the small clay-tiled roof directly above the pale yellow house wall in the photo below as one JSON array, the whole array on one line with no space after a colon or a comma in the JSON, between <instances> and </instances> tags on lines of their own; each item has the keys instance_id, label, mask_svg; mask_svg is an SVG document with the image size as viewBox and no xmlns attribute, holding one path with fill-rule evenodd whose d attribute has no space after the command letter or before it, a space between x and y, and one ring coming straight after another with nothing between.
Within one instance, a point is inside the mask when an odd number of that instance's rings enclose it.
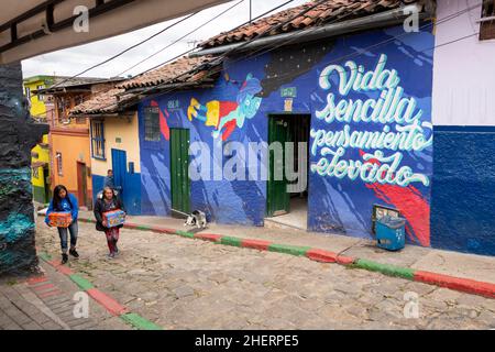
<instances>
[{"instance_id":1,"label":"small clay-tiled roof directly above the pale yellow house wall","mask_svg":"<svg viewBox=\"0 0 495 352\"><path fill-rule=\"evenodd\" d=\"M113 113L118 110L118 101L119 103L129 102L134 97L135 95L125 95L124 89L113 88L74 107L70 116Z\"/></svg>"}]
</instances>

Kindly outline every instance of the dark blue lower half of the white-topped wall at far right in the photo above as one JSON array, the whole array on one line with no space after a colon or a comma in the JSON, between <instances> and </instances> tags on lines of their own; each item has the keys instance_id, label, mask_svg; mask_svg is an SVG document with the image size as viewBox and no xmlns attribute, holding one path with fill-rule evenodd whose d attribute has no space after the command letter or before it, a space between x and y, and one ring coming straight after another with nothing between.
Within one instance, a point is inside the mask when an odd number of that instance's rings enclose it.
<instances>
[{"instance_id":1,"label":"dark blue lower half of the white-topped wall at far right","mask_svg":"<svg viewBox=\"0 0 495 352\"><path fill-rule=\"evenodd\" d=\"M495 255L495 128L436 127L431 244Z\"/></svg>"}]
</instances>

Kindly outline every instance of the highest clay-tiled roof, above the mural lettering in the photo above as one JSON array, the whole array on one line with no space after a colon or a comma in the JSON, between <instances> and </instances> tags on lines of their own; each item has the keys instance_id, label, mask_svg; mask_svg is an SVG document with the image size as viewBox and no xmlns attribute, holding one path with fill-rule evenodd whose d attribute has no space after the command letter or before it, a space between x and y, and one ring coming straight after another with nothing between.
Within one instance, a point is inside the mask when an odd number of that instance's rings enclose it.
<instances>
[{"instance_id":1,"label":"highest clay-tiled roof, above the mural lettering","mask_svg":"<svg viewBox=\"0 0 495 352\"><path fill-rule=\"evenodd\" d=\"M422 0L421 0L422 1ZM245 24L230 32L220 33L199 44L202 48L239 43L252 40L277 24L289 21L287 24L264 34L264 36L287 33L307 28L327 24L329 22L346 21L383 11L397 9L400 6L419 2L417 0L328 0L302 15L304 10L318 3L309 1L301 6L290 8L272 15L262 18L253 23Z\"/></svg>"}]
</instances>

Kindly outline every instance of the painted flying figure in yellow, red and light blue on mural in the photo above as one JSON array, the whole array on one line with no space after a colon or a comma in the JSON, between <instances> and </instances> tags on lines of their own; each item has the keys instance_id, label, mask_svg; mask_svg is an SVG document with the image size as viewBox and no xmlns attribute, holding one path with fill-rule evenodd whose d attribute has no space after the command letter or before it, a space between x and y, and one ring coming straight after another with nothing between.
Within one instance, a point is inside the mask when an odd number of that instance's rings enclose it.
<instances>
[{"instance_id":1,"label":"painted flying figure in yellow, red and light blue on mural","mask_svg":"<svg viewBox=\"0 0 495 352\"><path fill-rule=\"evenodd\" d=\"M262 98L256 95L262 90L260 80L249 74L239 89L235 101L210 100L201 105L197 99L190 100L187 109L187 118L205 122L205 125L212 127L215 131L211 135L226 141L232 132L242 129L245 120L252 119L260 109Z\"/></svg>"}]
</instances>

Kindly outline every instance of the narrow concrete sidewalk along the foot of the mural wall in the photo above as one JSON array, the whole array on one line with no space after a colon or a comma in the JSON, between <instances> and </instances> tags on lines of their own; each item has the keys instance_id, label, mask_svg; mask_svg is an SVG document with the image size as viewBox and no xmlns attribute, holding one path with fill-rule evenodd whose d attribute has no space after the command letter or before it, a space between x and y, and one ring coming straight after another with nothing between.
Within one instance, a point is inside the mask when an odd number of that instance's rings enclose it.
<instances>
[{"instance_id":1,"label":"narrow concrete sidewalk along the foot of the mural wall","mask_svg":"<svg viewBox=\"0 0 495 352\"><path fill-rule=\"evenodd\" d=\"M80 211L80 219L94 221L94 215L92 212ZM185 228L184 220L174 218L129 216L128 222L136 226L196 232ZM210 223L208 229L197 233L215 233L296 246L317 248L343 256L365 258L382 264L495 284L495 257L492 256L463 254L416 245L406 245L399 252L388 252L376 248L374 242L369 240L292 229L277 230Z\"/></svg>"}]
</instances>

